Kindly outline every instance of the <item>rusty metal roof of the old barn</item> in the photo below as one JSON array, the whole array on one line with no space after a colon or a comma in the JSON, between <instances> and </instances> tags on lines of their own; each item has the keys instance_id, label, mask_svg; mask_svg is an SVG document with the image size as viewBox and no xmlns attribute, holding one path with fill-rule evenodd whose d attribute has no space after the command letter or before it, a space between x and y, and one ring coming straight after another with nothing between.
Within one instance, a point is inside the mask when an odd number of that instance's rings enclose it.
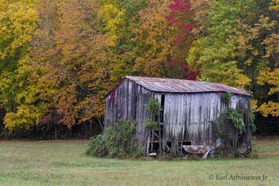
<instances>
[{"instance_id":1,"label":"rusty metal roof of the old barn","mask_svg":"<svg viewBox=\"0 0 279 186\"><path fill-rule=\"evenodd\" d=\"M153 78L153 77L132 77L126 76L141 86L156 92L169 93L200 93L200 92L229 92L241 95L250 95L244 91L227 86L225 84L197 82L184 79Z\"/></svg>"}]
</instances>

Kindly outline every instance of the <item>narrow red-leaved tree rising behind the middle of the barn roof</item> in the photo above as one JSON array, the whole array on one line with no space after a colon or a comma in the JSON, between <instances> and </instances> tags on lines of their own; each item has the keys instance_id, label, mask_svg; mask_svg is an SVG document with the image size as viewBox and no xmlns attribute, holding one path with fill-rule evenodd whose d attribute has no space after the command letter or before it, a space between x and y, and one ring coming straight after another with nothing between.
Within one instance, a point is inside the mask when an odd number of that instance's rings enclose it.
<instances>
[{"instance_id":1,"label":"narrow red-leaved tree rising behind the middle of the barn roof","mask_svg":"<svg viewBox=\"0 0 279 186\"><path fill-rule=\"evenodd\" d=\"M175 56L169 56L169 61L172 63L181 64L181 69L184 71L183 79L196 80L200 74L199 68L195 68L193 63L189 63L186 59L189 53L190 45L194 40L193 31L195 26L195 11L194 6L199 1L189 0L174 0L168 8L170 10L167 15L167 27L172 29L174 35L173 44L176 51Z\"/></svg>"}]
</instances>

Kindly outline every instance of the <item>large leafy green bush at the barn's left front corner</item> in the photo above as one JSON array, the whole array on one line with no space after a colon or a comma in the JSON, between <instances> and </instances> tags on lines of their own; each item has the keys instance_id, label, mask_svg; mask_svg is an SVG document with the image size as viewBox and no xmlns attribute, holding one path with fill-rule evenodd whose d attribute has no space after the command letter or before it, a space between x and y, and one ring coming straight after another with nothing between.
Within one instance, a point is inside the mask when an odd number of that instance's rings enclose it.
<instances>
[{"instance_id":1,"label":"large leafy green bush at the barn's left front corner","mask_svg":"<svg viewBox=\"0 0 279 186\"><path fill-rule=\"evenodd\" d=\"M135 146L135 124L119 121L107 127L103 134L89 141L86 155L96 157L140 157L143 150Z\"/></svg>"}]
</instances>

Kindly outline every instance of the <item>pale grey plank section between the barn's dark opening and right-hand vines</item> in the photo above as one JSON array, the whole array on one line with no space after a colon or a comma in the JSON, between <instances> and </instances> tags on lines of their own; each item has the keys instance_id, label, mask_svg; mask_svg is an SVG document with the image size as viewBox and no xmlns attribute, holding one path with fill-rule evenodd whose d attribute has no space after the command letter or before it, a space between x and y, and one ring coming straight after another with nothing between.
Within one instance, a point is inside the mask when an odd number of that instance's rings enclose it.
<instances>
[{"instance_id":1,"label":"pale grey plank section between the barn's dark opening and right-hand vines","mask_svg":"<svg viewBox=\"0 0 279 186\"><path fill-rule=\"evenodd\" d=\"M164 132L167 141L191 141L192 145L213 142L211 121L218 117L216 93L169 93L165 95Z\"/></svg>"}]
</instances>

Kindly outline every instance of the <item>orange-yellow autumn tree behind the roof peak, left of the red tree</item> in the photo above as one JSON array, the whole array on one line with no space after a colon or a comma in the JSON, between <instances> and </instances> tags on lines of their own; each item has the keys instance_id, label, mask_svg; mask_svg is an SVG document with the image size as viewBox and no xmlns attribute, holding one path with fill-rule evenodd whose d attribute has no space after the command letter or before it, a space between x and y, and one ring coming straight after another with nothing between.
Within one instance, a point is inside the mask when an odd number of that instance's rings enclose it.
<instances>
[{"instance_id":1,"label":"orange-yellow autumn tree behind the roof peak, left of the red tree","mask_svg":"<svg viewBox=\"0 0 279 186\"><path fill-rule=\"evenodd\" d=\"M173 78L183 75L183 60L176 63L172 60L178 51L173 43L173 28L167 26L168 6L169 1L150 0L147 7L140 11L140 26L133 29L137 42L137 57L133 66L135 75Z\"/></svg>"}]
</instances>

